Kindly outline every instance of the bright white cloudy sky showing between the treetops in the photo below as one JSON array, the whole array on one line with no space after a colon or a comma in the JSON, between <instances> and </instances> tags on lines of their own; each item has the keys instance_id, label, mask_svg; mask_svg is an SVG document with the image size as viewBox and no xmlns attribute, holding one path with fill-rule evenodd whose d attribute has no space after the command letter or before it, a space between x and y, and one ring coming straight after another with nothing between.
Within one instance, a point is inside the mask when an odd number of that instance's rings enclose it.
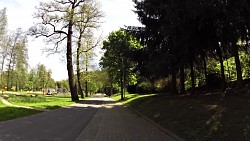
<instances>
[{"instance_id":1,"label":"bright white cloudy sky showing between the treetops","mask_svg":"<svg viewBox=\"0 0 250 141\"><path fill-rule=\"evenodd\" d=\"M105 14L104 23L100 28L100 32L103 32L104 37L124 25L141 25L134 12L132 12L132 9L134 9L132 0L99 0L99 2ZM0 0L0 9L7 8L8 29L15 30L21 27L23 30L27 30L31 27L34 23L32 15L36 11L35 6L38 3L39 0ZM47 56L46 53L42 53L41 50L45 46L42 39L29 38L30 67L35 67L39 63L45 64L47 68L52 70L52 77L55 80L66 79L67 69L65 62L60 59L62 57L60 55Z\"/></svg>"}]
</instances>

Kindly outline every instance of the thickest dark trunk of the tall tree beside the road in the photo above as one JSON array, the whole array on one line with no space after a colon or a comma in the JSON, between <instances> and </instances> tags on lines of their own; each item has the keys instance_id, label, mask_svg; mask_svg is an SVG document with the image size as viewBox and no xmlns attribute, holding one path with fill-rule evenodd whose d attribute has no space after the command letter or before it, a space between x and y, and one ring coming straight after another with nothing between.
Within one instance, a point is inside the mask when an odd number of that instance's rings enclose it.
<instances>
[{"instance_id":1,"label":"thickest dark trunk of the tall tree beside the road","mask_svg":"<svg viewBox=\"0 0 250 141\"><path fill-rule=\"evenodd\" d=\"M75 5L72 5L71 8L71 15L68 25L68 34L67 34L67 70L68 70L68 77L69 77L69 87L70 87L70 93L71 93L71 100L72 101L79 101L79 97L77 95L77 87L74 81L74 70L73 70L73 63L72 63L72 27L73 27L73 15L74 15L74 7Z\"/></svg>"}]
</instances>

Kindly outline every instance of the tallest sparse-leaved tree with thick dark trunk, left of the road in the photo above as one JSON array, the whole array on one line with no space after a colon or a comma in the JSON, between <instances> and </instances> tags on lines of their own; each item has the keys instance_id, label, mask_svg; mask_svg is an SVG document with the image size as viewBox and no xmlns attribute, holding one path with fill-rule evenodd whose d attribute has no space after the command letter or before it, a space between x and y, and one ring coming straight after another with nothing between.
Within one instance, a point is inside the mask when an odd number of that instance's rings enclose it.
<instances>
[{"instance_id":1,"label":"tallest sparse-leaved tree with thick dark trunk, left of the road","mask_svg":"<svg viewBox=\"0 0 250 141\"><path fill-rule=\"evenodd\" d=\"M72 101L78 101L77 86L74 80L73 58L72 58L72 35L73 27L77 22L83 22L76 17L78 9L86 0L53 0L51 2L40 2L37 7L35 18L41 22L30 28L30 34L36 37L48 37L48 41L54 42L53 51L58 51L59 44L66 40L66 58L69 77L69 86Z\"/></svg>"}]
</instances>

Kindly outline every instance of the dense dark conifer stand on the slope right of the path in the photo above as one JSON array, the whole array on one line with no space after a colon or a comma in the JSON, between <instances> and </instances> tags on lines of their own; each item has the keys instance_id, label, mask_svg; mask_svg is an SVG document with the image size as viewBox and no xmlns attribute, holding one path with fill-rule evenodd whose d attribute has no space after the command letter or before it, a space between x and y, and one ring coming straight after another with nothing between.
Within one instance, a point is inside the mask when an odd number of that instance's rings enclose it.
<instances>
[{"instance_id":1,"label":"dense dark conifer stand on the slope right of the path","mask_svg":"<svg viewBox=\"0 0 250 141\"><path fill-rule=\"evenodd\" d=\"M142 91L168 91L175 95L190 89L195 94L197 87L224 91L234 86L230 85L232 81L237 81L237 87L245 84L243 80L249 78L250 71L248 1L134 3L144 26L129 26L124 31L143 46L136 51L127 50L131 53L127 59L135 64L127 69L138 76L137 90L141 86ZM116 39L123 42L119 36ZM107 57L105 54L104 62Z\"/></svg>"}]
</instances>

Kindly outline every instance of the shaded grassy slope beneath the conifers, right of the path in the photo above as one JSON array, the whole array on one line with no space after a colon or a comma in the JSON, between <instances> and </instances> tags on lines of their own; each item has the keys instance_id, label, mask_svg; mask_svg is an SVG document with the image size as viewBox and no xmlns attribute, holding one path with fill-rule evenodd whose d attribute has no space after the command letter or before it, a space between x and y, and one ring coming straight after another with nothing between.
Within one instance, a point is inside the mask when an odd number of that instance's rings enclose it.
<instances>
[{"instance_id":1,"label":"shaded grassy slope beneath the conifers, right of the path","mask_svg":"<svg viewBox=\"0 0 250 141\"><path fill-rule=\"evenodd\" d=\"M123 103L187 141L250 140L249 97L133 94Z\"/></svg>"}]
</instances>

